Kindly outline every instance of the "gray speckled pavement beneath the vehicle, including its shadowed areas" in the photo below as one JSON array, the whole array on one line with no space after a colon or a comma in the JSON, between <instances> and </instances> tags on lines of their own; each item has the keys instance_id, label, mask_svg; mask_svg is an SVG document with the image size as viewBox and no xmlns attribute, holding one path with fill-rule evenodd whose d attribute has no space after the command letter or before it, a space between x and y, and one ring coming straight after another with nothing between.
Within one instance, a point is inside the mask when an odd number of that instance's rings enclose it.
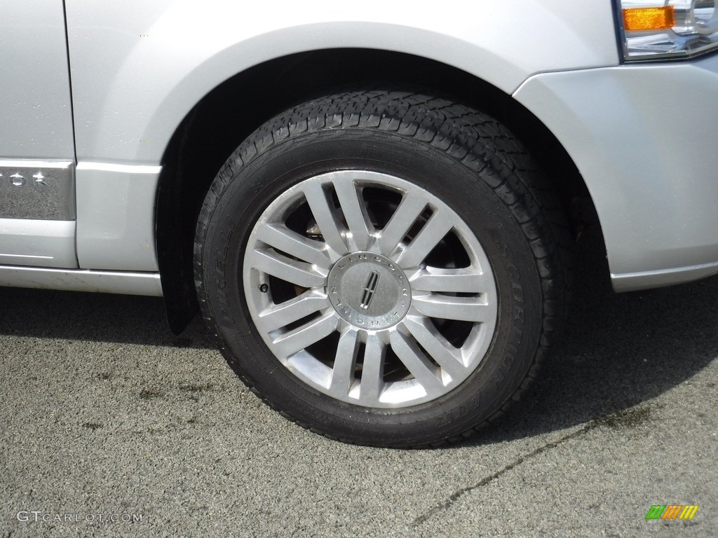
<instances>
[{"instance_id":1,"label":"gray speckled pavement beneath the vehicle, including its shadowed areas","mask_svg":"<svg viewBox=\"0 0 718 538\"><path fill-rule=\"evenodd\" d=\"M577 273L536 390L441 450L298 428L159 300L1 288L0 537L718 535L718 278L615 295L600 256Z\"/></svg>"}]
</instances>

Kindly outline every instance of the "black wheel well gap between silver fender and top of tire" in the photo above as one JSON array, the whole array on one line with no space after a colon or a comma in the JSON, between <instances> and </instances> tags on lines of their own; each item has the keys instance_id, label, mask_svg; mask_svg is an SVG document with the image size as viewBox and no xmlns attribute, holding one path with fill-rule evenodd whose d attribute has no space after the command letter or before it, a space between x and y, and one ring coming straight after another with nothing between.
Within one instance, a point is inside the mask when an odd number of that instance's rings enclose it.
<instances>
[{"instance_id":1,"label":"black wheel well gap between silver fender and top of tire","mask_svg":"<svg viewBox=\"0 0 718 538\"><path fill-rule=\"evenodd\" d=\"M174 333L179 334L197 311L195 225L205 194L227 157L262 123L291 105L333 90L377 85L432 91L493 115L528 147L559 193L569 219L578 225L582 217L574 202L590 198L572 159L533 114L493 85L455 67L397 52L330 49L282 57L252 67L208 93L187 114L164 153L157 193L157 255Z\"/></svg>"}]
</instances>

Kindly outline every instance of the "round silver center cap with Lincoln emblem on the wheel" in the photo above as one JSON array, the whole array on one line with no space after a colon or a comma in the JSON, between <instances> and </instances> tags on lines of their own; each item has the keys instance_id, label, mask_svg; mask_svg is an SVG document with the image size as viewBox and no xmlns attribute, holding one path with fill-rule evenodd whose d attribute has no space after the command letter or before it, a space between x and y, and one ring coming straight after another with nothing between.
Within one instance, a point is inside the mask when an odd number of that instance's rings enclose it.
<instances>
[{"instance_id":1,"label":"round silver center cap with Lincoln emblem on the wheel","mask_svg":"<svg viewBox=\"0 0 718 538\"><path fill-rule=\"evenodd\" d=\"M396 263L376 253L346 255L334 264L327 295L342 318L376 331L401 321L411 305L411 288Z\"/></svg>"}]
</instances>

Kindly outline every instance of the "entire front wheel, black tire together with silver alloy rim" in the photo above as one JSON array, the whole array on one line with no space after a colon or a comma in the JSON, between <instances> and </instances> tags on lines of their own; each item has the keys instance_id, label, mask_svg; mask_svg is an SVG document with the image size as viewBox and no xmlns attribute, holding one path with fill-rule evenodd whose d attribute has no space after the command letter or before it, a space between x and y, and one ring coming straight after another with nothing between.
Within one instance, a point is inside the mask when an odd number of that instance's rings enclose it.
<instances>
[{"instance_id":1,"label":"entire front wheel, black tire together with silver alloy rim","mask_svg":"<svg viewBox=\"0 0 718 538\"><path fill-rule=\"evenodd\" d=\"M208 192L202 312L235 372L304 427L381 446L466 437L523 394L563 310L561 217L540 183L464 105L306 103Z\"/></svg>"}]
</instances>

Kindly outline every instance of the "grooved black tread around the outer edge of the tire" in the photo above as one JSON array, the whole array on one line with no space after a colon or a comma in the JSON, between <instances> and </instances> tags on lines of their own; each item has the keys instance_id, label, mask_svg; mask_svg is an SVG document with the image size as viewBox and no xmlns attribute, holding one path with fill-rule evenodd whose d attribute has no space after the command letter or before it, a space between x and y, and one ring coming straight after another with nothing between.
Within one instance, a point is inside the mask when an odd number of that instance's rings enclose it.
<instances>
[{"instance_id":1,"label":"grooved black tread around the outer edge of the tire","mask_svg":"<svg viewBox=\"0 0 718 538\"><path fill-rule=\"evenodd\" d=\"M325 437L357 443L330 432L317 430L279 410L271 397L261 394L241 366L226 352L218 334L215 316L208 303L208 288L202 278L202 238L218 200L242 166L260 158L269 148L286 143L299 133L367 128L412 138L443 151L475 172L506 204L526 237L541 278L544 318L541 336L526 376L506 402L486 420L446 440L421 445L396 444L395 448L426 448L448 445L498 423L534 384L541 364L566 316L573 268L572 240L566 217L556 193L536 167L521 143L507 128L473 108L424 93L396 90L350 91L303 103L277 116L244 141L220 170L200 212L195 236L195 284L202 316L213 330L220 350L238 377L267 405L287 420ZM523 178L530 177L530 181ZM371 443L363 443L371 444Z\"/></svg>"}]
</instances>

